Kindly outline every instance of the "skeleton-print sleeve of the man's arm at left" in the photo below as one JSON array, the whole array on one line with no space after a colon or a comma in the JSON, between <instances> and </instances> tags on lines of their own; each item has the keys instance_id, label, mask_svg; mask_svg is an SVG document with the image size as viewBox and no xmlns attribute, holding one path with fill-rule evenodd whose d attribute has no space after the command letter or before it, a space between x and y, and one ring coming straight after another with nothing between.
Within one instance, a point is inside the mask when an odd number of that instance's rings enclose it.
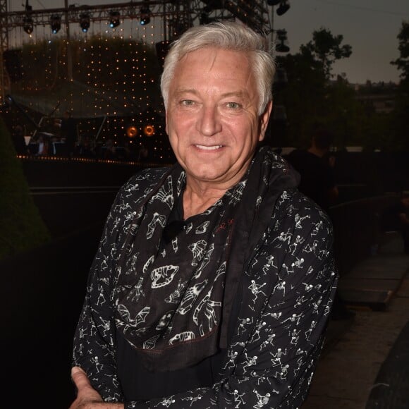
<instances>
[{"instance_id":1,"label":"skeleton-print sleeve of the man's arm at left","mask_svg":"<svg viewBox=\"0 0 409 409\"><path fill-rule=\"evenodd\" d=\"M165 173L165 168L145 169L123 185L111 206L88 276L83 310L74 335L73 367L81 367L86 372L90 384L106 402L122 400L115 359L116 264L135 210Z\"/></svg>"}]
</instances>

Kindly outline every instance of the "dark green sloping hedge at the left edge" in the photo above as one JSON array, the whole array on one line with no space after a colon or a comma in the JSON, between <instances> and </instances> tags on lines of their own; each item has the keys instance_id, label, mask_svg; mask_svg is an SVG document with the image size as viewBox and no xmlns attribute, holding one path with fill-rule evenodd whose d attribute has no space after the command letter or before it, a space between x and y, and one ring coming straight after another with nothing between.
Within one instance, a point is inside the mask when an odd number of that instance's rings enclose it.
<instances>
[{"instance_id":1,"label":"dark green sloping hedge at the left edge","mask_svg":"<svg viewBox=\"0 0 409 409\"><path fill-rule=\"evenodd\" d=\"M0 260L50 239L30 196L11 136L0 118Z\"/></svg>"}]
</instances>

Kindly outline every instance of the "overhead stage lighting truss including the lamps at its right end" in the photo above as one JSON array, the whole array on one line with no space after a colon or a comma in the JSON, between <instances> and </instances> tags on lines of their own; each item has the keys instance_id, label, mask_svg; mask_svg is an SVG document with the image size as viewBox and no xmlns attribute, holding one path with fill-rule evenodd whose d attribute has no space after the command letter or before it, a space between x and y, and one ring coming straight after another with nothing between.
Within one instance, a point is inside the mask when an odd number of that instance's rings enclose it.
<instances>
[{"instance_id":1,"label":"overhead stage lighting truss including the lamps at its right end","mask_svg":"<svg viewBox=\"0 0 409 409\"><path fill-rule=\"evenodd\" d=\"M155 25L159 24L157 19L162 20L163 34L166 40L171 40L197 23L237 19L257 32L269 35L273 29L271 9L269 9L267 1L276 4L278 0L164 0L163 3L159 0L142 0L130 1L128 4L118 4L117 6L71 4L65 8L36 10L35 12L27 6L24 11L8 13L6 20L2 20L0 25L2 25L1 29L4 33L16 27L20 27L22 30L24 28L25 32L34 32L37 25L50 27L51 16L58 15L61 16L61 27L66 24L68 28L70 24L75 23L78 24L78 29L86 33L89 31L91 22L103 21L106 26L110 25L111 28L114 28L118 23L122 25L125 20L136 18L138 25L147 27L147 25L152 25L155 18ZM280 10L280 13L283 11L283 7L288 8L288 0L281 0L279 6L274 6ZM113 11L116 13L110 13ZM51 30L53 29L51 28Z\"/></svg>"}]
</instances>

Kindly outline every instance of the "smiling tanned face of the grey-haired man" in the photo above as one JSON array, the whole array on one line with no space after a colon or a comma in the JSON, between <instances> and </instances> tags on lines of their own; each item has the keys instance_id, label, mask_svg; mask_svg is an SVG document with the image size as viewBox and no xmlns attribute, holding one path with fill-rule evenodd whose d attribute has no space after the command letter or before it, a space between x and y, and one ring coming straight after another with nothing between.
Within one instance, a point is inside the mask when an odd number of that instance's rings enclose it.
<instances>
[{"instance_id":1,"label":"smiling tanned face of the grey-haired man","mask_svg":"<svg viewBox=\"0 0 409 409\"><path fill-rule=\"evenodd\" d=\"M229 188L264 138L271 106L258 116L257 83L245 53L204 48L176 66L166 132L188 181Z\"/></svg>"}]
</instances>

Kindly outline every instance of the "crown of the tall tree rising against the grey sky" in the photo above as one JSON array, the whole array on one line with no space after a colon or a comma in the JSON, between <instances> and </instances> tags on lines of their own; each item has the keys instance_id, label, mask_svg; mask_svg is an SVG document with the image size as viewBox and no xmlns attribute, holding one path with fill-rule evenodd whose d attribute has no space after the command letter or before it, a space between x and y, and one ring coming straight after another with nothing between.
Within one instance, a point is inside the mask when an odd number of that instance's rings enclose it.
<instances>
[{"instance_id":1,"label":"crown of the tall tree rising against the grey sky","mask_svg":"<svg viewBox=\"0 0 409 409\"><path fill-rule=\"evenodd\" d=\"M312 33L312 41L301 45L301 54L311 54L322 64L324 75L331 78L331 69L336 60L345 59L352 54L349 44L341 45L343 35L332 35L326 28L320 28Z\"/></svg>"}]
</instances>

